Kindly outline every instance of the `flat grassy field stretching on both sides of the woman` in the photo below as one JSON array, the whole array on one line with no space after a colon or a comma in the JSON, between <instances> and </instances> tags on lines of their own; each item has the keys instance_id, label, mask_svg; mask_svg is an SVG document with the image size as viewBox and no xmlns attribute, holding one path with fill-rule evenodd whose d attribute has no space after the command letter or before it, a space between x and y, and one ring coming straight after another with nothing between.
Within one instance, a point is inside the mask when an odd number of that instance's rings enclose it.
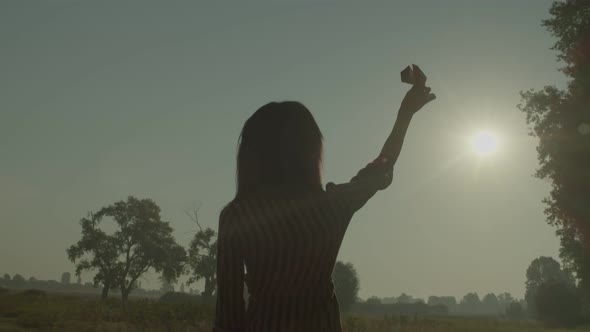
<instances>
[{"instance_id":1,"label":"flat grassy field stretching on both sides of the woman","mask_svg":"<svg viewBox=\"0 0 590 332\"><path fill-rule=\"evenodd\" d=\"M165 304L133 300L126 315L116 299L101 302L94 297L46 295L42 292L0 295L0 331L211 331L211 305ZM536 332L590 331L547 330L527 321L505 321L459 317L361 316L342 317L347 332Z\"/></svg>"}]
</instances>

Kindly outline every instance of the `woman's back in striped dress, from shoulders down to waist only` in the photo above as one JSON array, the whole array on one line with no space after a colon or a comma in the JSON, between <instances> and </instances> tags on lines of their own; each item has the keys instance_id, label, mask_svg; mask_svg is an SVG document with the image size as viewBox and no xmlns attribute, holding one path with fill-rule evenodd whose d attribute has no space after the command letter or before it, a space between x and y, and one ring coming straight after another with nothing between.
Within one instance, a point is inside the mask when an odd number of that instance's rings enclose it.
<instances>
[{"instance_id":1,"label":"woman's back in striped dress, from shoulders down to waist only","mask_svg":"<svg viewBox=\"0 0 590 332\"><path fill-rule=\"evenodd\" d=\"M327 196L236 204L251 294L314 295L331 286L350 216Z\"/></svg>"}]
</instances>

